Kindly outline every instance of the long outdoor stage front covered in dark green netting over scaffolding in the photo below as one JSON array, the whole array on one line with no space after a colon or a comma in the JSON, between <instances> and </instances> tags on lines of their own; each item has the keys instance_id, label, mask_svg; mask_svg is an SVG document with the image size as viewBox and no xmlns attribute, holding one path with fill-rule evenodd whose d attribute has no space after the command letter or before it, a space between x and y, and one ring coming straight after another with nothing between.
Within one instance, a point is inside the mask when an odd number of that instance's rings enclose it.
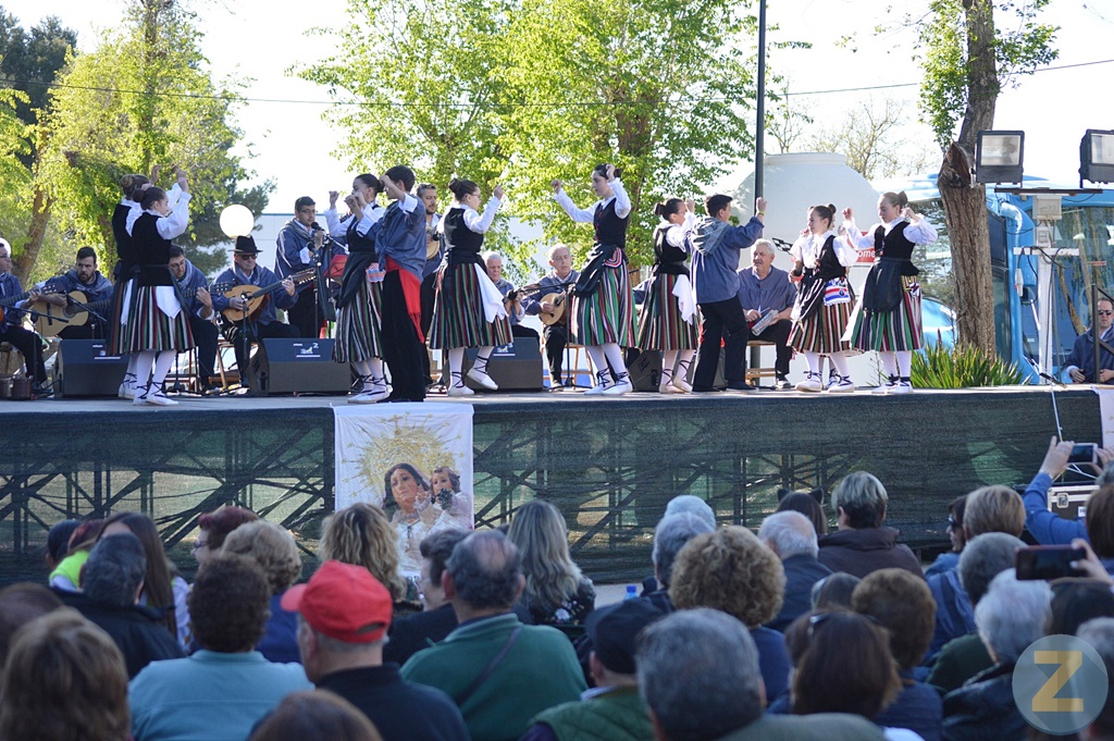
<instances>
[{"instance_id":1,"label":"long outdoor stage front covered in dark green netting over scaffolding","mask_svg":"<svg viewBox=\"0 0 1114 741\"><path fill-rule=\"evenodd\" d=\"M1066 438L1102 440L1089 388L1054 398ZM179 399L0 402L0 583L43 576L49 525L109 510L152 514L186 573L197 516L229 501L292 529L312 557L333 508L331 407L344 399ZM984 484L1026 484L1057 432L1048 387L449 401L475 408L477 525L544 497L566 513L578 563L609 582L651 573L653 528L676 494L756 527L779 487L830 490L851 469L886 485L905 542L944 546L946 504Z\"/></svg>"}]
</instances>

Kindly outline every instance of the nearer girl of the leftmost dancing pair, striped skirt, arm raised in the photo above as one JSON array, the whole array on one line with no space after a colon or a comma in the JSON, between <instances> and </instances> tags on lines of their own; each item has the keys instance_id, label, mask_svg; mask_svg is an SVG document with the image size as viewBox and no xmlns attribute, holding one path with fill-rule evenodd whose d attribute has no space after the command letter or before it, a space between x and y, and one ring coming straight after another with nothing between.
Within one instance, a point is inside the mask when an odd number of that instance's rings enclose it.
<instances>
[{"instance_id":1,"label":"nearer girl of the leftmost dancing pair, striped skirt, arm raised","mask_svg":"<svg viewBox=\"0 0 1114 741\"><path fill-rule=\"evenodd\" d=\"M178 172L182 196L170 212L166 192L150 187L143 194L143 214L129 223L139 272L125 299L120 350L138 353L134 404L177 404L167 398L163 382L179 352L194 347L189 316L178 302L170 273L170 240L189 223L189 183Z\"/></svg>"}]
</instances>

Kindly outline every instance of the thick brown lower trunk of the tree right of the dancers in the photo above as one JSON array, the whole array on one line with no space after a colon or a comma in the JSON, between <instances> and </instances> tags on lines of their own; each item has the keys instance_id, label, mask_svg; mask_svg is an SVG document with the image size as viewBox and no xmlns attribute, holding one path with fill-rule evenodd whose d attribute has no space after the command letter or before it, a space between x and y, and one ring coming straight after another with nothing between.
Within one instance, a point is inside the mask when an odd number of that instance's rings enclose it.
<instances>
[{"instance_id":1,"label":"thick brown lower trunk of the tree right of the dancers","mask_svg":"<svg viewBox=\"0 0 1114 741\"><path fill-rule=\"evenodd\" d=\"M944 201L948 238L951 241L959 344L996 353L986 188L971 185L970 157L959 145L948 147L936 185Z\"/></svg>"}]
</instances>

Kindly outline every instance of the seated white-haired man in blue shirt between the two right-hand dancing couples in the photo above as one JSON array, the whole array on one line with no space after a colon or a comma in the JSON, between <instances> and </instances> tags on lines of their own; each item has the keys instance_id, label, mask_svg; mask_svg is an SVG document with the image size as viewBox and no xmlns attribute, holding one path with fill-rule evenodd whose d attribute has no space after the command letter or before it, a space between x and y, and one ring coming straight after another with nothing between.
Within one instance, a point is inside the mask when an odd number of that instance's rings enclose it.
<instances>
[{"instance_id":1,"label":"seated white-haired man in blue shirt between the two right-hand dancing couples","mask_svg":"<svg viewBox=\"0 0 1114 741\"><path fill-rule=\"evenodd\" d=\"M746 315L743 341L773 342L776 351L775 388L791 389L788 376L793 349L789 347L789 332L792 329L790 315L797 301L797 285L789 280L789 273L773 266L773 244L769 240L759 240L751 250L752 266L739 271L739 302L743 304L743 314ZM751 328L771 311L776 312L776 321L754 334Z\"/></svg>"}]
</instances>

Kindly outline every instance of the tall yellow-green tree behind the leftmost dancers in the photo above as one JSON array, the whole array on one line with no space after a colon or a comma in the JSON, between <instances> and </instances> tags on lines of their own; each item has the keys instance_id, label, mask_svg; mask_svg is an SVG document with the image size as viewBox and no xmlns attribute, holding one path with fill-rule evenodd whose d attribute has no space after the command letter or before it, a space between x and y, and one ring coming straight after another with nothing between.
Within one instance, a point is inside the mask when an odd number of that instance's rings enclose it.
<instances>
[{"instance_id":1,"label":"tall yellow-green tree behind the leftmost dancers","mask_svg":"<svg viewBox=\"0 0 1114 741\"><path fill-rule=\"evenodd\" d=\"M69 53L37 130L31 224L17 248L21 277L31 273L48 222L97 248L101 264L115 262L110 218L124 174L160 165L160 184L169 186L175 167L187 170L195 213L245 195L235 184L247 173L231 153L242 135L233 90L213 80L204 61L194 14L177 0L133 0L95 50ZM211 257L215 267L223 254Z\"/></svg>"}]
</instances>

